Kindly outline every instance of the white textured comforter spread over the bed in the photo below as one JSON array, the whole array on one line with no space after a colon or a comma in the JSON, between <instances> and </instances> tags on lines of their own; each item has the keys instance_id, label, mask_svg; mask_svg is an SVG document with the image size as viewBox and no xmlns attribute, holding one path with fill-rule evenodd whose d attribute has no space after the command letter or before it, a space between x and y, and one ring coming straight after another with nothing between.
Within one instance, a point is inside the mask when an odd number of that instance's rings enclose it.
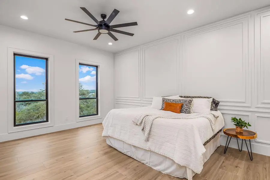
<instances>
[{"instance_id":1,"label":"white textured comforter spread over the bed","mask_svg":"<svg viewBox=\"0 0 270 180\"><path fill-rule=\"evenodd\" d=\"M173 159L177 164L186 166L195 173L202 171L202 155L205 152L203 143L210 139L224 126L224 119L219 111L212 130L206 118L197 119L155 119L149 134L149 141L141 127L132 122L134 116L141 113L157 113L174 116L176 113L152 109L150 107L114 109L105 117L102 125L102 136L110 136L133 146L156 152ZM188 116L190 114L180 114ZM179 114L178 114L179 116Z\"/></svg>"}]
</instances>

